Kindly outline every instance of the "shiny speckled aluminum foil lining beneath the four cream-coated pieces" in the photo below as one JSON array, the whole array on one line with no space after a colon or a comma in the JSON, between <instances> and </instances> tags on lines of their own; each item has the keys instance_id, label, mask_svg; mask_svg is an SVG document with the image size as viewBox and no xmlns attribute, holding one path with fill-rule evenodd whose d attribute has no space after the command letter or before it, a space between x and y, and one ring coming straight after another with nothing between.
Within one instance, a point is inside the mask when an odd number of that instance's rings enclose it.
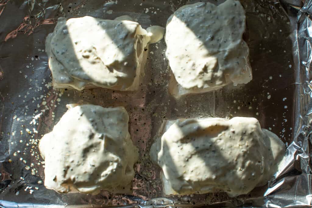
<instances>
[{"instance_id":1,"label":"shiny speckled aluminum foil lining beneath the four cream-coated pieces","mask_svg":"<svg viewBox=\"0 0 312 208\"><path fill-rule=\"evenodd\" d=\"M311 0L241 0L247 17L244 39L253 70L253 80L247 85L174 99L168 94L172 74L162 40L149 46L137 92L52 88L44 41L57 17L114 19L129 15L143 28L164 27L178 7L195 2L198 0L0 0L1 207L312 205ZM127 109L129 132L140 149L132 195L106 191L95 196L58 194L44 187L44 162L37 144L68 103ZM162 121L209 116L256 117L287 146L282 170L266 186L235 198L225 193L164 196L161 170L149 159L149 148Z\"/></svg>"}]
</instances>

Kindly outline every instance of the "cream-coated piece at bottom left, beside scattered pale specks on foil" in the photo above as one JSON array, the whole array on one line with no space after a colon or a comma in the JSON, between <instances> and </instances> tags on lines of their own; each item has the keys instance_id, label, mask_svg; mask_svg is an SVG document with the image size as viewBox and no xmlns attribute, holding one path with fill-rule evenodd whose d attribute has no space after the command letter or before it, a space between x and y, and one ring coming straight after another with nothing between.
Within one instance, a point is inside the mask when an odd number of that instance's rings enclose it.
<instances>
[{"instance_id":1,"label":"cream-coated piece at bottom left, beside scattered pale specks on foil","mask_svg":"<svg viewBox=\"0 0 312 208\"><path fill-rule=\"evenodd\" d=\"M46 188L59 193L131 193L139 153L128 132L127 111L96 105L68 107L39 143Z\"/></svg>"}]
</instances>

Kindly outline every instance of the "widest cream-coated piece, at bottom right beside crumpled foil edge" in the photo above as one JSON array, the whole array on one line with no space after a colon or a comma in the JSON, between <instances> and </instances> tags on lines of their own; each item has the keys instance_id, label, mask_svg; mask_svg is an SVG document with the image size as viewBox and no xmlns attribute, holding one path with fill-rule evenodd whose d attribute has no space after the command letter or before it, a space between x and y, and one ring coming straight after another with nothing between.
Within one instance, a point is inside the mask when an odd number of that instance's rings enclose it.
<instances>
[{"instance_id":1,"label":"widest cream-coated piece, at bottom right beside crumpled foil edge","mask_svg":"<svg viewBox=\"0 0 312 208\"><path fill-rule=\"evenodd\" d=\"M178 119L162 128L150 156L163 170L166 195L247 194L271 179L285 155L284 143L255 118Z\"/></svg>"}]
</instances>

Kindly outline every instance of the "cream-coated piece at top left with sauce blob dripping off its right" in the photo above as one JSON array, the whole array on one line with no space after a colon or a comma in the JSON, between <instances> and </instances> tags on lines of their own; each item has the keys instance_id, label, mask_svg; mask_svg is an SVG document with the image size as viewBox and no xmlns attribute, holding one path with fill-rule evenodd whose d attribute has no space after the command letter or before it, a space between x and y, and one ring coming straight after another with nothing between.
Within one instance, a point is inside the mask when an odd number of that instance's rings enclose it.
<instances>
[{"instance_id":1,"label":"cream-coated piece at top left with sauce blob dripping off its right","mask_svg":"<svg viewBox=\"0 0 312 208\"><path fill-rule=\"evenodd\" d=\"M60 17L46 38L54 87L136 90L144 48L163 37L161 27L153 31L142 29L129 16Z\"/></svg>"}]
</instances>

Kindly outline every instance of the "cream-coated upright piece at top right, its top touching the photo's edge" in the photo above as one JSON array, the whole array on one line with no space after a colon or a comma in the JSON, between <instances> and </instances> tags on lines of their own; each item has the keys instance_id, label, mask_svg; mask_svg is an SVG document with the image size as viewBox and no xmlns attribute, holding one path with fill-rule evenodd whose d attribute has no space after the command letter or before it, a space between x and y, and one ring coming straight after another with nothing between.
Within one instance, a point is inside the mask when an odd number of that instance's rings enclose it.
<instances>
[{"instance_id":1,"label":"cream-coated upright piece at top right, its top touching the photo's edge","mask_svg":"<svg viewBox=\"0 0 312 208\"><path fill-rule=\"evenodd\" d=\"M171 93L206 92L252 80L249 49L242 39L245 28L244 8L235 0L219 6L198 2L174 12L165 34L175 79Z\"/></svg>"}]
</instances>

